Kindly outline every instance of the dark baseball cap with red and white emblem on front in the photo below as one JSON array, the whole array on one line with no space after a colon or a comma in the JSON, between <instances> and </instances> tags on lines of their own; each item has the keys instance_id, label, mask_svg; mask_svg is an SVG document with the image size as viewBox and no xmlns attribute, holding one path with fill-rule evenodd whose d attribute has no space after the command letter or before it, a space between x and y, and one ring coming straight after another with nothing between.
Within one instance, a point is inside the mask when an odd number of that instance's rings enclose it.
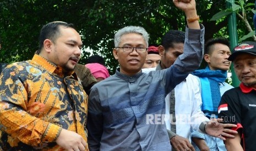
<instances>
[{"instance_id":1,"label":"dark baseball cap with red and white emblem on front","mask_svg":"<svg viewBox=\"0 0 256 151\"><path fill-rule=\"evenodd\" d=\"M233 61L237 55L247 53L256 56L256 42L242 42L233 49L233 53L228 57L227 60Z\"/></svg>"}]
</instances>

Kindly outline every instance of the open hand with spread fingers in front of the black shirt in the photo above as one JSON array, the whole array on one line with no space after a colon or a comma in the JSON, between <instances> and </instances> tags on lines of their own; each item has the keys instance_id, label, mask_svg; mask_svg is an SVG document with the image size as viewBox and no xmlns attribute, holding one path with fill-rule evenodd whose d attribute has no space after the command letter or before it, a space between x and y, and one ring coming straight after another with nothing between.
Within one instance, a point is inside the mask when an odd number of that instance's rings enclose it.
<instances>
[{"instance_id":1,"label":"open hand with spread fingers in front of the black shirt","mask_svg":"<svg viewBox=\"0 0 256 151\"><path fill-rule=\"evenodd\" d=\"M205 125L205 132L214 137L218 137L221 140L226 140L225 137L229 138L235 138L235 134L237 131L231 130L231 129L226 129L225 127L237 127L235 124L222 124L219 123L221 122L222 119L211 119L208 124ZM233 135L232 135L233 134Z\"/></svg>"}]
</instances>

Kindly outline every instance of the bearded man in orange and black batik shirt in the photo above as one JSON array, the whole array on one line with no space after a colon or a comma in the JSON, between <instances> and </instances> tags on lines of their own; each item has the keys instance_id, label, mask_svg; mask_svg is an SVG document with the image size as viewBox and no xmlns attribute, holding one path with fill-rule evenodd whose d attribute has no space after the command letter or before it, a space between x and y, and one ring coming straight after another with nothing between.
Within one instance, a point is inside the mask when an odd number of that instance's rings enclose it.
<instances>
[{"instance_id":1,"label":"bearded man in orange and black batik shirt","mask_svg":"<svg viewBox=\"0 0 256 151\"><path fill-rule=\"evenodd\" d=\"M0 150L88 150L88 96L74 67L82 42L72 24L42 27L32 60L0 75Z\"/></svg>"}]
</instances>

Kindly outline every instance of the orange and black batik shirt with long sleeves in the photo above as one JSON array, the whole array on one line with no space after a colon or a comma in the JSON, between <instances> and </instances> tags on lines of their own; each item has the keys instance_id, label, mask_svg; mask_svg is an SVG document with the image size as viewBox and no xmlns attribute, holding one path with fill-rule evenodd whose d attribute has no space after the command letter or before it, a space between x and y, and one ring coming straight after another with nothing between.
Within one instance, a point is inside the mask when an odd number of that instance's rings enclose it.
<instances>
[{"instance_id":1,"label":"orange and black batik shirt with long sleeves","mask_svg":"<svg viewBox=\"0 0 256 151\"><path fill-rule=\"evenodd\" d=\"M62 129L87 142L87 107L88 96L74 72L64 75L39 55L8 65L0 76L0 147L62 150L56 143Z\"/></svg>"}]
</instances>

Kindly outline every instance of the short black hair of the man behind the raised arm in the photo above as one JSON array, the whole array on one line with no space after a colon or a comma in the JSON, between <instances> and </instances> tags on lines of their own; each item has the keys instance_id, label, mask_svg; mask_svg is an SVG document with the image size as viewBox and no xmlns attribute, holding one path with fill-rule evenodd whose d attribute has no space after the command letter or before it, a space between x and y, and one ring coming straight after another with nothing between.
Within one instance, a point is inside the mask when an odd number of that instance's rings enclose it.
<instances>
[{"instance_id":1,"label":"short black hair of the man behind the raised arm","mask_svg":"<svg viewBox=\"0 0 256 151\"><path fill-rule=\"evenodd\" d=\"M178 30L170 30L164 34L162 37L161 45L168 50L169 48L173 48L176 43L185 42L185 32Z\"/></svg>"}]
</instances>

